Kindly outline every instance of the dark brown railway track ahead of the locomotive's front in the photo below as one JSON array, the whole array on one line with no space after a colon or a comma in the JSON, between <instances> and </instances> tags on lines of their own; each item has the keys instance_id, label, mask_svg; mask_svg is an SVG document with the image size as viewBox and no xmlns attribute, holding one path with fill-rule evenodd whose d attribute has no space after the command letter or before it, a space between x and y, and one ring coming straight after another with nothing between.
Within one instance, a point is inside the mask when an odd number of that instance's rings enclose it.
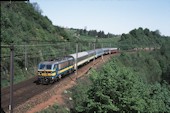
<instances>
[{"instance_id":1,"label":"dark brown railway track ahead of the locomotive's front","mask_svg":"<svg viewBox=\"0 0 170 113\"><path fill-rule=\"evenodd\" d=\"M51 87L51 85L36 85L33 81L36 80L36 77L31 78L25 82L14 85L13 92L13 108L17 107L19 104L27 101L32 96L41 93L43 90L46 90ZM8 110L10 102L10 89L9 87L1 90L1 103L4 111Z\"/></svg>"}]
</instances>

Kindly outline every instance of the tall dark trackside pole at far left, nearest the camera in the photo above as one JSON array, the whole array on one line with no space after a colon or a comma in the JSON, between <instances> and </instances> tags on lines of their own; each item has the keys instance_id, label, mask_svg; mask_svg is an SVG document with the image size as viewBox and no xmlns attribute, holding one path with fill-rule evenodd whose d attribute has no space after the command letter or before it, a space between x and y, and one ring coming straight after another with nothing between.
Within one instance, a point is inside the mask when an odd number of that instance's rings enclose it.
<instances>
[{"instance_id":1,"label":"tall dark trackside pole at far left, nearest the camera","mask_svg":"<svg viewBox=\"0 0 170 113\"><path fill-rule=\"evenodd\" d=\"M13 80L14 80L14 45L10 46L10 105L9 111L13 113Z\"/></svg>"}]
</instances>

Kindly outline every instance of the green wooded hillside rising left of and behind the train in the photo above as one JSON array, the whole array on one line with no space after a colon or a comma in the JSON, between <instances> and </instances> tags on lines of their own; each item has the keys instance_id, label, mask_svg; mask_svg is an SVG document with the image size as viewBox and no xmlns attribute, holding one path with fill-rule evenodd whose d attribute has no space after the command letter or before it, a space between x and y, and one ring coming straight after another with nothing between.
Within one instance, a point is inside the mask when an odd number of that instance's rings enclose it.
<instances>
[{"instance_id":1,"label":"green wooded hillside rising left of and behind the train","mask_svg":"<svg viewBox=\"0 0 170 113\"><path fill-rule=\"evenodd\" d=\"M36 76L40 61L74 53L77 41L80 42L79 51L94 48L93 42L96 41L96 37L88 34L80 34L77 37L76 33L79 33L79 30L54 26L48 17L41 13L37 3L1 2L1 45L11 43L15 45L15 83ZM104 36L103 32L102 35ZM106 38L100 38L100 42L107 41ZM102 44L96 44L96 47L102 47ZM105 44L103 47L108 45ZM4 87L9 85L10 49L2 47L1 53L1 75Z\"/></svg>"}]
</instances>

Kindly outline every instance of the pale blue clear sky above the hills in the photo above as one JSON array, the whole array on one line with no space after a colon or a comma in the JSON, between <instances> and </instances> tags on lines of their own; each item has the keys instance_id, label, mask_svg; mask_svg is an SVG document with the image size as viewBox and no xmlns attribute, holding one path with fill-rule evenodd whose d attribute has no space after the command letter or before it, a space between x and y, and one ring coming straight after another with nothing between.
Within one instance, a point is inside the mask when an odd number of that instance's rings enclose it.
<instances>
[{"instance_id":1,"label":"pale blue clear sky above the hills","mask_svg":"<svg viewBox=\"0 0 170 113\"><path fill-rule=\"evenodd\" d=\"M139 27L170 36L170 0L30 0L53 25L106 34Z\"/></svg>"}]
</instances>

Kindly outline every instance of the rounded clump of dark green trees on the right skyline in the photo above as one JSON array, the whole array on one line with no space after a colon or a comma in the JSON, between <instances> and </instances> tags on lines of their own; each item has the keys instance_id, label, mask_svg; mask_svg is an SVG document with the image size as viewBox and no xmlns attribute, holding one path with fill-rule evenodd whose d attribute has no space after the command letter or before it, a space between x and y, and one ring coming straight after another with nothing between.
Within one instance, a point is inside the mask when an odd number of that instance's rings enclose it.
<instances>
[{"instance_id":1,"label":"rounded clump of dark green trees on the right skyline","mask_svg":"<svg viewBox=\"0 0 170 113\"><path fill-rule=\"evenodd\" d=\"M131 30L128 34L122 34L119 47L123 50L133 48L160 47L166 37L161 36L159 30L150 31L141 28Z\"/></svg>"}]
</instances>

